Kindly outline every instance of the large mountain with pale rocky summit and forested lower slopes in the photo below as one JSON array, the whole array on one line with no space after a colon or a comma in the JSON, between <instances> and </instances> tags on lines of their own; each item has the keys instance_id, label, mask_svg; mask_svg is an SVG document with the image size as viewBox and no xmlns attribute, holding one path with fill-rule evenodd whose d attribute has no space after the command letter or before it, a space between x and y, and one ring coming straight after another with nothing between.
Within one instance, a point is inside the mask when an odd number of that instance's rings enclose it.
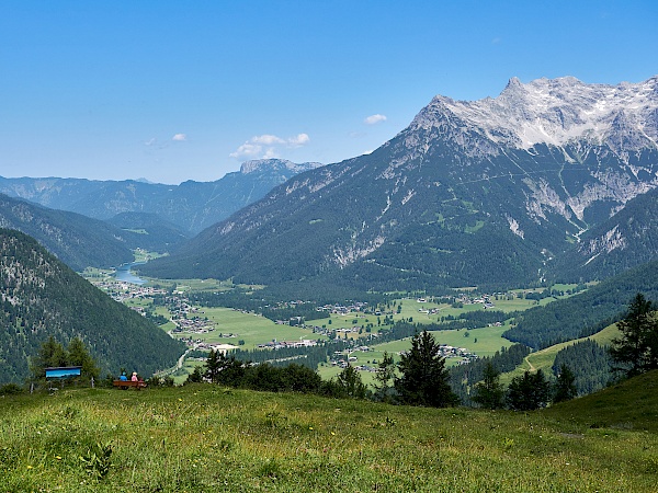
<instances>
[{"instance_id":1,"label":"large mountain with pale rocky summit and forested lower slopes","mask_svg":"<svg viewBox=\"0 0 658 493\"><path fill-rule=\"evenodd\" d=\"M626 207L651 199L657 142L658 77L436 96L374 152L290 179L144 272L379 290L608 275L655 252L639 254L653 209Z\"/></svg>"}]
</instances>

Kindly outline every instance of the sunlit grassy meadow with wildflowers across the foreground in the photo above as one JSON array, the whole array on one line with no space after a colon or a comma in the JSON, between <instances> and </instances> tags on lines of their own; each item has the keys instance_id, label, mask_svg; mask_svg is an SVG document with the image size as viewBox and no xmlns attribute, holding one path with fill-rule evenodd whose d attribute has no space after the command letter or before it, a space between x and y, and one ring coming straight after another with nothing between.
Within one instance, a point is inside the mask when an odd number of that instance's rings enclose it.
<instances>
[{"instance_id":1,"label":"sunlit grassy meadow with wildflowers across the foreground","mask_svg":"<svg viewBox=\"0 0 658 493\"><path fill-rule=\"evenodd\" d=\"M534 413L211 385L5 397L0 491L649 492L657 383Z\"/></svg>"}]
</instances>

